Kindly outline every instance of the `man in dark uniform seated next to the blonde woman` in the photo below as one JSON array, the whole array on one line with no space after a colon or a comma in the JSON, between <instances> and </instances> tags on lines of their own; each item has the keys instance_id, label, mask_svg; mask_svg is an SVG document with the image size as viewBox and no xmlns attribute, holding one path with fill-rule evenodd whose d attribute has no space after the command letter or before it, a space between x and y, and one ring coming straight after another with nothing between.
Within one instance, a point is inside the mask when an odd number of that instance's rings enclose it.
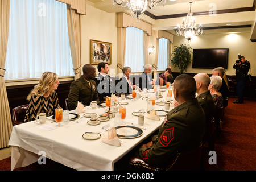
<instances>
[{"instance_id":1,"label":"man in dark uniform seated next to the blonde woman","mask_svg":"<svg viewBox=\"0 0 256 182\"><path fill-rule=\"evenodd\" d=\"M73 81L70 86L68 106L71 110L76 109L77 101L82 102L84 106L89 106L91 101L100 102L97 85L93 80L96 76L96 69L91 64L85 64L82 71L84 75Z\"/></svg>"}]
</instances>

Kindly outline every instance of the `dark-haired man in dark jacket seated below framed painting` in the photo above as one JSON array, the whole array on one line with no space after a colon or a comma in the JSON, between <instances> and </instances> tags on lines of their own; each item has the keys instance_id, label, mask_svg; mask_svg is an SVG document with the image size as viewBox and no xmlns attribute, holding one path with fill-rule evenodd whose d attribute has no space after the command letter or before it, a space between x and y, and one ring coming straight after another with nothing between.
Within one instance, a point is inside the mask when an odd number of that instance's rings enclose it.
<instances>
[{"instance_id":1,"label":"dark-haired man in dark jacket seated below framed painting","mask_svg":"<svg viewBox=\"0 0 256 182\"><path fill-rule=\"evenodd\" d=\"M98 64L98 77L94 78L97 85L98 97L100 101L104 101L106 96L111 97L112 93L115 93L115 85L113 80L109 75L109 65L108 63Z\"/></svg>"}]
</instances>

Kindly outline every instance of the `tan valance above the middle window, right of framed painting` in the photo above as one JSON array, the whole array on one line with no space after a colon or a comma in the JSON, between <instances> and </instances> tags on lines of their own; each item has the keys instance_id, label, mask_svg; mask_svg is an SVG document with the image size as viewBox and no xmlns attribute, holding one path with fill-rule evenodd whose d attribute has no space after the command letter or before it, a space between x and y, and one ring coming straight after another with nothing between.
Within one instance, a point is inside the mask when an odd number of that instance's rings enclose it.
<instances>
[{"instance_id":1,"label":"tan valance above the middle window, right of framed painting","mask_svg":"<svg viewBox=\"0 0 256 182\"><path fill-rule=\"evenodd\" d=\"M118 28L127 28L127 27L135 27L145 31L148 36L152 35L152 24L147 23L143 20L136 20L131 17L131 15L126 13L118 13L117 14L117 27Z\"/></svg>"}]
</instances>

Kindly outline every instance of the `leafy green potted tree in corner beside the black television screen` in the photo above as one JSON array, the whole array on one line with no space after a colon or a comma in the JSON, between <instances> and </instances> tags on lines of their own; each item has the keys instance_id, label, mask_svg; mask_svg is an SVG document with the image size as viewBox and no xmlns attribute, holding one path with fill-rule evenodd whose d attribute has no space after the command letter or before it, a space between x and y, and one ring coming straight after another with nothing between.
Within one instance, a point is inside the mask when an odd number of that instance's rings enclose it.
<instances>
[{"instance_id":1,"label":"leafy green potted tree in corner beside the black television screen","mask_svg":"<svg viewBox=\"0 0 256 182\"><path fill-rule=\"evenodd\" d=\"M179 68L180 73L184 73L187 70L188 65L191 63L191 47L181 44L180 46L175 46L176 48L172 52L171 63L174 67Z\"/></svg>"}]
</instances>

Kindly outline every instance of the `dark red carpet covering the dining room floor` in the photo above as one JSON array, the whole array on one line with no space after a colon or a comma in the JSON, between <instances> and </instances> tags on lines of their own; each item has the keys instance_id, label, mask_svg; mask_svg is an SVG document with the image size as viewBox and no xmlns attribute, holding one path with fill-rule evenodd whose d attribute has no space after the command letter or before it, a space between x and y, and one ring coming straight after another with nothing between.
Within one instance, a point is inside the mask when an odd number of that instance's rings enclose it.
<instances>
[{"instance_id":1,"label":"dark red carpet covering the dining room floor","mask_svg":"<svg viewBox=\"0 0 256 182\"><path fill-rule=\"evenodd\" d=\"M208 163L209 150L203 149L205 171L255 171L256 170L256 101L245 100L244 104L233 104L229 98L222 121L221 135L214 134L217 164ZM0 171L10 171L11 158L0 161ZM38 163L18 168L16 171L73 170L47 159L46 165Z\"/></svg>"}]
</instances>

